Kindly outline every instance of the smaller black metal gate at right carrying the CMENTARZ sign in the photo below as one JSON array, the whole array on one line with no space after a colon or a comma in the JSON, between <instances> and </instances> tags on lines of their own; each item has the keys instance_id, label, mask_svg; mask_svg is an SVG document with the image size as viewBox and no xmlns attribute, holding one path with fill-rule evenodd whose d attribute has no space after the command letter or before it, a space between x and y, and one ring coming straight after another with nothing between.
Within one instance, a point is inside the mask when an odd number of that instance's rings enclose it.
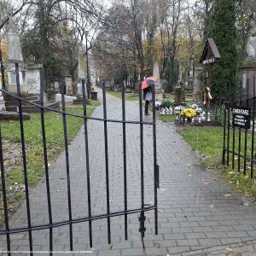
<instances>
[{"instance_id":1,"label":"smaller black metal gate at right carrying the CMENTARZ sign","mask_svg":"<svg viewBox=\"0 0 256 256\"><path fill-rule=\"evenodd\" d=\"M250 87L249 84L253 84ZM231 166L232 171L243 173L251 178L256 165L255 158L255 101L256 80L247 79L244 96L228 98L224 102L224 141L223 165ZM246 92L245 92L246 91ZM252 93L253 92L253 93Z\"/></svg>"}]
</instances>

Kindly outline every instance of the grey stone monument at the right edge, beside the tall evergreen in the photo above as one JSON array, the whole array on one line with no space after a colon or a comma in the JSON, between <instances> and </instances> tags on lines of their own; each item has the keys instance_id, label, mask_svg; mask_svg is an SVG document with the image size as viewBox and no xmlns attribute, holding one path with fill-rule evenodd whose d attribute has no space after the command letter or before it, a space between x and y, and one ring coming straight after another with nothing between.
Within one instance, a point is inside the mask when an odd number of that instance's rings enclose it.
<instances>
[{"instance_id":1,"label":"grey stone monument at the right edge, beside the tall evergreen","mask_svg":"<svg viewBox=\"0 0 256 256\"><path fill-rule=\"evenodd\" d=\"M241 96L252 97L256 88L253 88L253 77L256 79L256 27L253 28L247 42L247 58L241 68ZM248 84L247 84L248 80Z\"/></svg>"}]
</instances>

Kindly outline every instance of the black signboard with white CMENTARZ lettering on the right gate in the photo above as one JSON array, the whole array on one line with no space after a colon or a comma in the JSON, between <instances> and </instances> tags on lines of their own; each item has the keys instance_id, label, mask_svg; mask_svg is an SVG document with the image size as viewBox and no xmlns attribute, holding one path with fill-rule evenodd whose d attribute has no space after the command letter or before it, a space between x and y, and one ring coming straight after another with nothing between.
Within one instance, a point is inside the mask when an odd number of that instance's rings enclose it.
<instances>
[{"instance_id":1,"label":"black signboard with white CMENTARZ lettering on the right gate","mask_svg":"<svg viewBox=\"0 0 256 256\"><path fill-rule=\"evenodd\" d=\"M248 130L251 127L251 109L249 108L233 108L233 127Z\"/></svg>"}]
</instances>

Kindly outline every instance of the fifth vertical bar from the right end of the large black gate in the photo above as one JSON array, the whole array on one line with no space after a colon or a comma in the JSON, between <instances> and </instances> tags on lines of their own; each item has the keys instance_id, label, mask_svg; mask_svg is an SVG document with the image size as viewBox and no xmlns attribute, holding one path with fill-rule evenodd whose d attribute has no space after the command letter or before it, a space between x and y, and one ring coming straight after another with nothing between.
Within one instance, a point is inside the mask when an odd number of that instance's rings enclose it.
<instances>
[{"instance_id":1,"label":"fifth vertical bar from the right end of the large black gate","mask_svg":"<svg viewBox=\"0 0 256 256\"><path fill-rule=\"evenodd\" d=\"M82 79L82 92L83 92L83 108L84 108L84 141L85 141L85 158L86 158L86 177L87 177L87 201L88 201L88 215L91 218L91 202L90 202L90 160L89 160L89 143L88 143L88 119L87 119L87 107L86 107L86 91L85 81ZM90 247L92 247L92 230L91 219L89 220L89 240Z\"/></svg>"}]
</instances>

